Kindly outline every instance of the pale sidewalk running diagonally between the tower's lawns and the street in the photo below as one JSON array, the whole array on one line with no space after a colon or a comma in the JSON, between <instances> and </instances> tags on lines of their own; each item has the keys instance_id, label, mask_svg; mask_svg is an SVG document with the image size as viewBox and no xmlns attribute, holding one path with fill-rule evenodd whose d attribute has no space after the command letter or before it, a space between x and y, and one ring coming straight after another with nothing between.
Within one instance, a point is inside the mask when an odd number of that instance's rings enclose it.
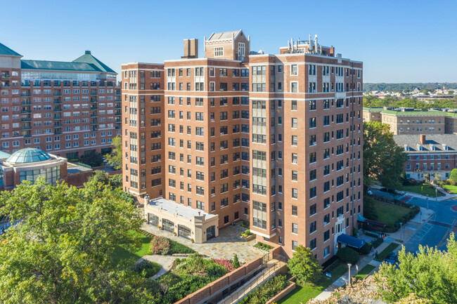
<instances>
[{"instance_id":1,"label":"pale sidewalk running diagonally between the tower's lawns and the street","mask_svg":"<svg viewBox=\"0 0 457 304\"><path fill-rule=\"evenodd\" d=\"M409 193L409 192L408 192ZM404 243L408 239L410 239L414 234L416 234L416 231L422 227L422 225L429 220L435 213L431 209L426 209L426 208L420 208L420 213L418 213L414 218L412 218L408 223L403 225L401 231L398 230L397 232L387 234L387 237L385 237L384 242L376 248L376 251L380 253L383 251L389 244L392 242L398 242L398 243ZM393 252L398 252L401 250L401 246L398 246L396 249L394 249ZM380 262L377 260L373 259L373 256L371 254L368 254L367 256L364 256L359 262L356 264L357 267L359 267L359 270L361 270L363 267L366 265L373 265L375 266L375 269L371 271L371 273L378 271L379 266L381 265ZM354 277L356 275L356 265L353 265L351 267L351 277ZM370 273L370 274L371 274ZM349 282L349 272L346 272L345 275L342 275L339 279L337 279L333 284L328 286L328 288L324 291L322 291L318 296L316 296L316 300L326 300L330 298L330 295L335 291L336 289L340 288L341 286L344 286Z\"/></svg>"}]
</instances>

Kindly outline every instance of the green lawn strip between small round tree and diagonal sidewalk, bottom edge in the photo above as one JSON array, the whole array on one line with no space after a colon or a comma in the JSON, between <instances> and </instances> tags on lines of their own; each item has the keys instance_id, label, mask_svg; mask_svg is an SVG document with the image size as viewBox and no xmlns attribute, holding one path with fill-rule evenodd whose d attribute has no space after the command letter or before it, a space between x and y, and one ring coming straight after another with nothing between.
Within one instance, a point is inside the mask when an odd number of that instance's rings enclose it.
<instances>
[{"instance_id":1,"label":"green lawn strip between small round tree and diagonal sidewalk, bottom edge","mask_svg":"<svg viewBox=\"0 0 457 304\"><path fill-rule=\"evenodd\" d=\"M324 291L328 286L344 275L345 272L347 272L347 265L335 262L333 265L330 265L327 271L332 274L331 279L328 279L325 275L323 275L319 286L300 286L297 284L295 289L282 298L278 304L307 303L310 298L315 298L319 293Z\"/></svg>"}]
</instances>

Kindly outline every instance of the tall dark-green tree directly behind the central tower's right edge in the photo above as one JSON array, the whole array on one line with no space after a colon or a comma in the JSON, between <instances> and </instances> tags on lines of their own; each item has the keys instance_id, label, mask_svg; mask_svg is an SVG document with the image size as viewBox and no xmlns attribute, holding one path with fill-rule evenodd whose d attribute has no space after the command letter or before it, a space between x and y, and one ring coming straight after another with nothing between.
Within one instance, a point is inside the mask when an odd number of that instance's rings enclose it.
<instances>
[{"instance_id":1,"label":"tall dark-green tree directly behind the central tower's right edge","mask_svg":"<svg viewBox=\"0 0 457 304\"><path fill-rule=\"evenodd\" d=\"M378 181L390 189L401 189L401 174L408 154L394 142L388 124L363 122L363 184Z\"/></svg>"}]
</instances>

